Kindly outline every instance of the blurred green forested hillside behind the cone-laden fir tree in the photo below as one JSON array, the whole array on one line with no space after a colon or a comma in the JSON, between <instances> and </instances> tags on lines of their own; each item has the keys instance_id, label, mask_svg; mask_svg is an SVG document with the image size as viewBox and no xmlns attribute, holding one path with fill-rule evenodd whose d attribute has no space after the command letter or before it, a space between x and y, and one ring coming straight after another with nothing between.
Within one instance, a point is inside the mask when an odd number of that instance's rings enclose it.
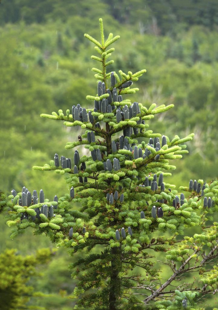
<instances>
[{"instance_id":1,"label":"blurred green forested hillside behind the cone-laden fir tree","mask_svg":"<svg viewBox=\"0 0 218 310\"><path fill-rule=\"evenodd\" d=\"M106 35L119 34L110 70L136 72L139 92L129 99L175 108L150 121L150 129L174 135L195 133L189 155L175 162L171 184L187 186L190 179L209 181L218 175L218 2L217 0L2 0L0 4L0 189L9 194L23 186L41 188L46 198L68 192L63 177L33 171L54 159L73 157L65 150L79 131L60 122L41 119L40 113L89 108L87 94L96 92L91 68L94 46L84 33L98 38L98 18ZM0 216L0 251L16 248L21 255L40 247L54 247L45 236L29 234L11 240ZM1 261L0 261L1 262ZM71 263L58 249L40 278L30 279L35 290L48 294L29 305L72 309L68 298L75 285ZM50 295L49 295L50 294ZM1 298L0 298L1 299ZM217 300L207 301L212 309ZM9 308L8 308L9 309ZM20 309L20 308L19 308Z\"/></svg>"}]
</instances>

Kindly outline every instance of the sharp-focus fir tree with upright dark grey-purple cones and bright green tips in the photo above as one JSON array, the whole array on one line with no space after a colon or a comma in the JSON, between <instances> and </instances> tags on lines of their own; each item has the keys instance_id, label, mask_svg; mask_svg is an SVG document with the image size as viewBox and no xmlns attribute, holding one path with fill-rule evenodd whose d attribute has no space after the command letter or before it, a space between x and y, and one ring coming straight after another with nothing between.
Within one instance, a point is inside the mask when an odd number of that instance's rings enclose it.
<instances>
[{"instance_id":1,"label":"sharp-focus fir tree with upright dark grey-purple cones and bright green tips","mask_svg":"<svg viewBox=\"0 0 218 310\"><path fill-rule=\"evenodd\" d=\"M92 68L97 93L86 96L90 108L73 103L66 115L41 114L81 127L78 141L65 148L83 146L89 155L75 149L71 160L56 153L50 164L33 167L65 175L69 192L49 200L43 190L12 190L6 215L14 226L11 238L30 226L68 248L76 258L70 265L78 280L74 309L200 309L200 299L218 290L218 223L208 222L218 209L218 181L191 180L180 192L165 182L176 168L169 160L188 153L185 142L194 134L170 140L148 129L155 114L173 104L145 107L128 99L146 70L107 71L111 45L120 37L110 33L105 40L102 19L99 24L100 42L85 34L98 54L91 58L100 65ZM184 229L195 226L201 232L184 237ZM158 260L168 267L167 279Z\"/></svg>"}]
</instances>

